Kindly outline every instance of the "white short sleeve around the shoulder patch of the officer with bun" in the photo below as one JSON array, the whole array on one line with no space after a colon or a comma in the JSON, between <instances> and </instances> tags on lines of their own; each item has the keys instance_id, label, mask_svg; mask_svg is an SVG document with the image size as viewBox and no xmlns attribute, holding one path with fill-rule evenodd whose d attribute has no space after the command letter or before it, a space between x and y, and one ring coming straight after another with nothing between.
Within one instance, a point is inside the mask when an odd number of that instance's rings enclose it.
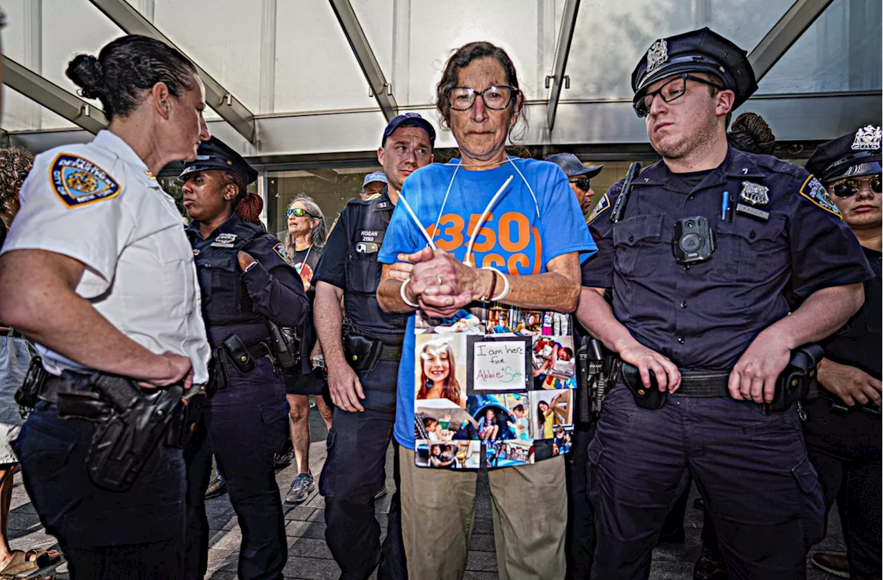
<instances>
[{"instance_id":1,"label":"white short sleeve around the shoulder patch of the officer with bun","mask_svg":"<svg viewBox=\"0 0 883 580\"><path fill-rule=\"evenodd\" d=\"M132 242L135 217L125 202L124 171L112 168L118 191L89 203L70 205L55 191L49 164L53 157L38 155L22 185L21 208L12 221L3 252L46 250L73 258L86 270L77 286L83 298L96 298L109 290L117 259Z\"/></svg>"}]
</instances>

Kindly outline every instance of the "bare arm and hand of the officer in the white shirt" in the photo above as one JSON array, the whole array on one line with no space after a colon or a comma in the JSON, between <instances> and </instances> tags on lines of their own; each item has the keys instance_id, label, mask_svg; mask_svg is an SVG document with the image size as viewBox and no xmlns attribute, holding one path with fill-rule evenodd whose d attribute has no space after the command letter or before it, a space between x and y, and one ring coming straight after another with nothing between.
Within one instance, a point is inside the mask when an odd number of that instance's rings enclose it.
<instances>
[{"instance_id":1,"label":"bare arm and hand of the officer in the white shirt","mask_svg":"<svg viewBox=\"0 0 883 580\"><path fill-rule=\"evenodd\" d=\"M88 368L160 386L187 376L189 358L155 355L79 297L75 290L84 270L78 260L55 252L5 254L0 258L0 320Z\"/></svg>"}]
</instances>

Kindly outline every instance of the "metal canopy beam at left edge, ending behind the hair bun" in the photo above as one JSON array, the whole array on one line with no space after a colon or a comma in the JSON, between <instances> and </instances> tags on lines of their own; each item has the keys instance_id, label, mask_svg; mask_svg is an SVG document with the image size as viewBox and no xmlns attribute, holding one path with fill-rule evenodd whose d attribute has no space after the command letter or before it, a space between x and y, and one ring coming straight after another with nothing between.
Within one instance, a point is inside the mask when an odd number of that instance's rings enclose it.
<instances>
[{"instance_id":1,"label":"metal canopy beam at left edge, ending behind the hair bun","mask_svg":"<svg viewBox=\"0 0 883 580\"><path fill-rule=\"evenodd\" d=\"M107 128L108 120L104 117L102 109L58 87L9 56L4 55L3 64L4 83L12 89L90 133L97 133Z\"/></svg>"}]
</instances>

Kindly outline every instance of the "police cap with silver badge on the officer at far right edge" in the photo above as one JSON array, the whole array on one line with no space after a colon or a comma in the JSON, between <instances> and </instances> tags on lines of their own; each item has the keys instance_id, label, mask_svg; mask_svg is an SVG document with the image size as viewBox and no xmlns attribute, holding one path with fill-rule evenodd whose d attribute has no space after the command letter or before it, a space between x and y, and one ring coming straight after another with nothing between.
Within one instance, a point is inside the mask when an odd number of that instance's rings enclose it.
<instances>
[{"instance_id":1,"label":"police cap with silver badge on the officer at far right edge","mask_svg":"<svg viewBox=\"0 0 883 580\"><path fill-rule=\"evenodd\" d=\"M806 169L824 183L883 173L883 127L869 124L816 147Z\"/></svg>"}]
</instances>

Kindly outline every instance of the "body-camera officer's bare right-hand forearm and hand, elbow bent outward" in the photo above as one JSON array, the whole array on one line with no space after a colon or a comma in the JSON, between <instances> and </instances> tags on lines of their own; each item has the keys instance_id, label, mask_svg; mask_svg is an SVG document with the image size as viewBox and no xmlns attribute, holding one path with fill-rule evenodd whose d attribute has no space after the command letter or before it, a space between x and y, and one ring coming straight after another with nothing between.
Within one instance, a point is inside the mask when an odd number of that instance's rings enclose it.
<instances>
[{"instance_id":1,"label":"body-camera officer's bare right-hand forearm and hand, elbow bent outward","mask_svg":"<svg viewBox=\"0 0 883 580\"><path fill-rule=\"evenodd\" d=\"M775 380L788 365L791 350L834 334L864 304L861 283L813 292L790 316L765 328L745 350L729 375L736 400L773 401Z\"/></svg>"}]
</instances>

